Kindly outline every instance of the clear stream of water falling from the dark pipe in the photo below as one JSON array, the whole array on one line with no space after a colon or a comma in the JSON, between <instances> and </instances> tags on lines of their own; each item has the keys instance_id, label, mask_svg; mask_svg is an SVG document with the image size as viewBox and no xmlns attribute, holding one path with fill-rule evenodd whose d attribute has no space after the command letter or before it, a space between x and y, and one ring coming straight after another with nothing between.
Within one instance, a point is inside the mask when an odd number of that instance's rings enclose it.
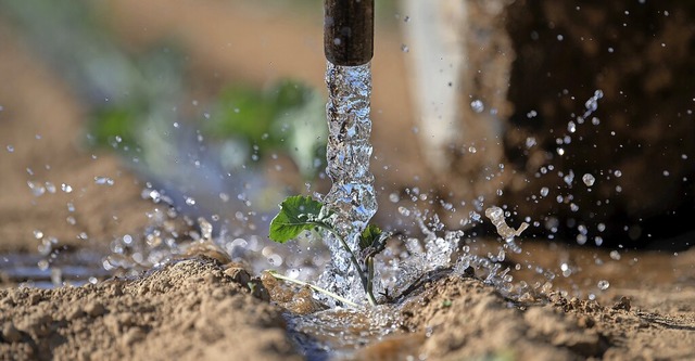
<instances>
[{"instance_id":1,"label":"clear stream of water falling from the dark pipe","mask_svg":"<svg viewBox=\"0 0 695 361\"><path fill-rule=\"evenodd\" d=\"M371 156L371 120L369 96L371 94L370 64L339 66L328 62L328 176L333 182L324 198L337 214L336 229L351 249L356 250L358 235L377 211L374 176L369 172ZM334 236L327 236L332 259L323 273L319 284L332 292L345 294L356 302L364 300L364 293L348 253Z\"/></svg>"}]
</instances>

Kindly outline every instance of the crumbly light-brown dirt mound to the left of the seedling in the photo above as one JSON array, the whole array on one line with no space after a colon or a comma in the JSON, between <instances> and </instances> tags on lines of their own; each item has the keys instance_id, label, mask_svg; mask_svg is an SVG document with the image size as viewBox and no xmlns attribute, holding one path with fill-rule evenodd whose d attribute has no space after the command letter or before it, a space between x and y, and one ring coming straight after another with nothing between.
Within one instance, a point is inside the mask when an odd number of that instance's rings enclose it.
<instances>
[{"instance_id":1,"label":"crumbly light-brown dirt mound to the left of the seedling","mask_svg":"<svg viewBox=\"0 0 695 361\"><path fill-rule=\"evenodd\" d=\"M142 279L0 291L0 354L15 360L299 360L281 309L204 259Z\"/></svg>"}]
</instances>

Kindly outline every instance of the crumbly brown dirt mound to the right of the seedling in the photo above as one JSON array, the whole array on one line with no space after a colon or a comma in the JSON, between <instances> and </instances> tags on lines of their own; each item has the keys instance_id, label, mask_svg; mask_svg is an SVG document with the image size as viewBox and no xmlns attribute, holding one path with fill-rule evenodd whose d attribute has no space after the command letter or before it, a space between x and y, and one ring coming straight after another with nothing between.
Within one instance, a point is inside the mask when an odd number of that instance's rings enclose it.
<instances>
[{"instance_id":1,"label":"crumbly brown dirt mound to the right of the seedling","mask_svg":"<svg viewBox=\"0 0 695 361\"><path fill-rule=\"evenodd\" d=\"M693 313L645 312L621 297L610 307L552 294L519 305L475 279L429 284L403 308L404 326L425 334L428 360L604 360L695 357Z\"/></svg>"}]
</instances>

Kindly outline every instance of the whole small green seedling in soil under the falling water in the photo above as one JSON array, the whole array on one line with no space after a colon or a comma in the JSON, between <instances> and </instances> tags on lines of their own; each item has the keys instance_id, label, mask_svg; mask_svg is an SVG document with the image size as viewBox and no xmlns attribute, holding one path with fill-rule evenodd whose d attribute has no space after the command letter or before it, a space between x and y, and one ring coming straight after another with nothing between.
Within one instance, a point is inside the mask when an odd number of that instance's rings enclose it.
<instances>
[{"instance_id":1,"label":"whole small green seedling in soil under the falling water","mask_svg":"<svg viewBox=\"0 0 695 361\"><path fill-rule=\"evenodd\" d=\"M383 250L390 234L382 232L374 224L369 224L359 235L359 249L354 250L350 248L345 240L336 230L334 219L334 212L327 205L309 196L290 196L280 204L280 211L270 222L269 236L275 242L286 243L307 231L328 232L334 235L341 246L350 254L350 260L359 275L362 285L367 294L367 300L371 306L376 306L377 300L374 296L374 257ZM277 278L277 274L274 275ZM318 287L312 286L312 288L317 289ZM319 292L346 305L354 305L334 297L334 295L325 289Z\"/></svg>"}]
</instances>

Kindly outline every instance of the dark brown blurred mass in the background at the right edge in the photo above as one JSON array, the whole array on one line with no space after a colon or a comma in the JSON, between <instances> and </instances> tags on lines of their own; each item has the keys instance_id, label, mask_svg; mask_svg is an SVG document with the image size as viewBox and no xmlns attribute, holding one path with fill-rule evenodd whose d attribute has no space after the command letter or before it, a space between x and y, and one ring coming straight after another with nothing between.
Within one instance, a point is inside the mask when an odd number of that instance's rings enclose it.
<instances>
[{"instance_id":1,"label":"dark brown blurred mass in the background at the right edge","mask_svg":"<svg viewBox=\"0 0 695 361\"><path fill-rule=\"evenodd\" d=\"M505 203L580 244L670 247L665 238L692 231L694 18L687 1L510 4L504 141L517 173ZM579 124L595 90L604 96Z\"/></svg>"}]
</instances>

